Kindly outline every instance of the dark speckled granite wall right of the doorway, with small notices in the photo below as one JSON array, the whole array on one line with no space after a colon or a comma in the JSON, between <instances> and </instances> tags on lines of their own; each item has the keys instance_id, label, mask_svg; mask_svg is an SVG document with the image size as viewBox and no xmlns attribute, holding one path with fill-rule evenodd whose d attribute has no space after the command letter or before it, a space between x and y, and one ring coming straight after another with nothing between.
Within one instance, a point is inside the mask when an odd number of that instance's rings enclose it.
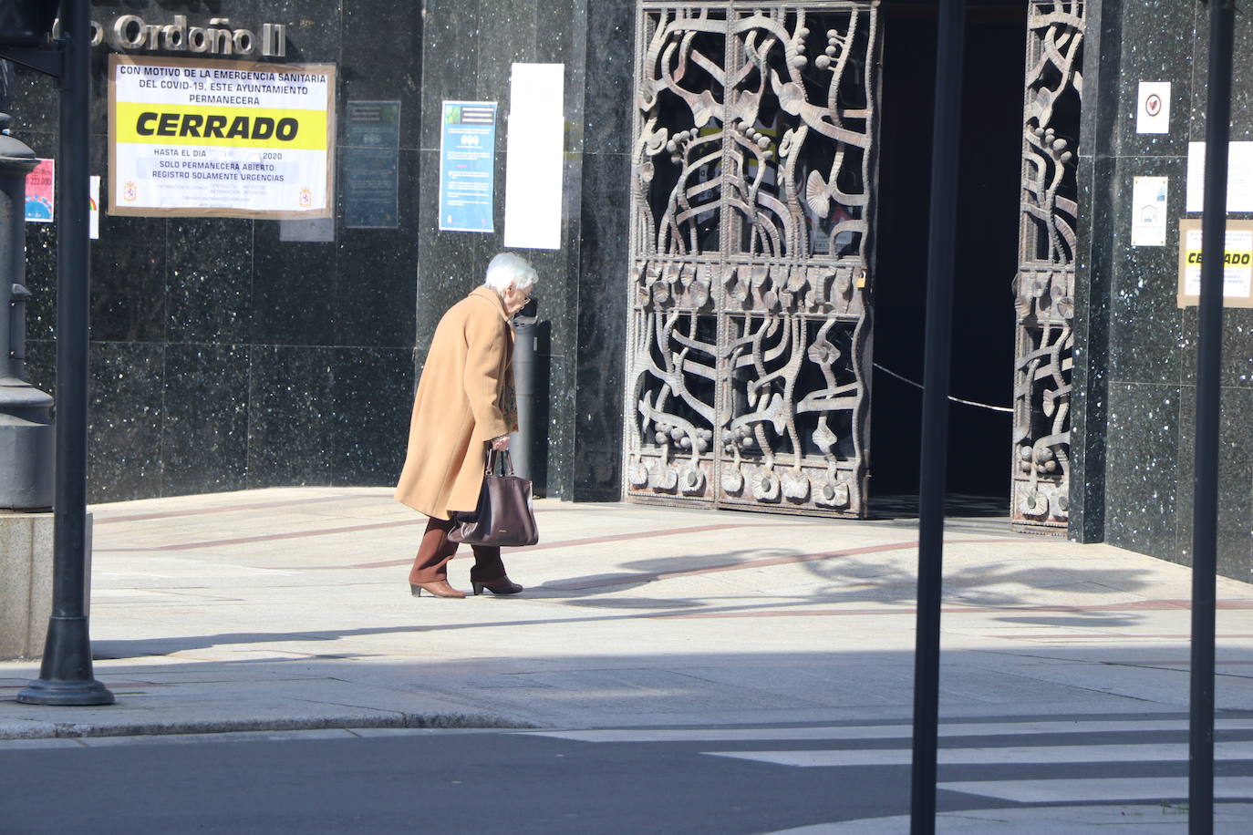
<instances>
[{"instance_id":1,"label":"dark speckled granite wall right of the doorway, with small notices","mask_svg":"<svg viewBox=\"0 0 1253 835\"><path fill-rule=\"evenodd\" d=\"M1170 0L1089 3L1071 535L1175 562L1192 553L1197 309L1179 309L1188 143L1204 140L1208 14ZM1139 134L1139 81L1170 81L1170 133ZM1232 139L1253 139L1253 31L1237 26ZM1131 247L1134 177L1169 178L1165 247ZM1233 214L1235 218L1253 215ZM1253 578L1253 310L1223 330L1219 572Z\"/></svg>"}]
</instances>

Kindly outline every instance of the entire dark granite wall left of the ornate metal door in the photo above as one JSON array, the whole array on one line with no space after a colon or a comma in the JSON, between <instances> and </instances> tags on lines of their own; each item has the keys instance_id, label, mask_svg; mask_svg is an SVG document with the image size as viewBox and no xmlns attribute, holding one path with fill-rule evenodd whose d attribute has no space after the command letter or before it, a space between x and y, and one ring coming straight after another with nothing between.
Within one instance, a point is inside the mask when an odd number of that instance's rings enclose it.
<instances>
[{"instance_id":1,"label":"entire dark granite wall left of the ornate metal door","mask_svg":"<svg viewBox=\"0 0 1253 835\"><path fill-rule=\"evenodd\" d=\"M561 249L541 275L541 492L619 497L632 0L103 0L93 18L288 25L287 61L336 63L348 101L401 101L396 229L296 242L278 222L101 217L91 253L90 499L277 484L390 484L435 323L502 247L514 61L565 64ZM425 8L424 8L425 6ZM104 48L93 172L107 172ZM15 134L55 155L56 95L19 70ZM500 103L495 234L439 232L445 99ZM585 199L586 198L586 199ZM306 229L304 232L308 232ZM55 230L28 224L33 382L55 391Z\"/></svg>"}]
</instances>

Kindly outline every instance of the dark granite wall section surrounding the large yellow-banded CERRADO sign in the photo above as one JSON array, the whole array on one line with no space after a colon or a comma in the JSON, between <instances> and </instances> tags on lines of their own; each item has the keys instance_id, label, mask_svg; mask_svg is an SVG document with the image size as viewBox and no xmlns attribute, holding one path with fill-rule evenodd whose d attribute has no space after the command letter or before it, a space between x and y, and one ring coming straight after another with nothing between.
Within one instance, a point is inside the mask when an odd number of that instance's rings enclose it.
<instances>
[{"instance_id":1,"label":"dark granite wall section surrounding the large yellow-banded CERRADO sign","mask_svg":"<svg viewBox=\"0 0 1253 835\"><path fill-rule=\"evenodd\" d=\"M192 25L288 25L287 61L338 65L346 104L401 101L398 227L284 240L273 220L100 219L91 248L90 501L276 484L386 484L413 387L421 9L407 0L114 0ZM93 173L107 170L105 48L93 56ZM380 60L380 58L385 60ZM51 81L19 70L14 134L56 153ZM342 194L342 188L337 189ZM304 222L309 223L309 222ZM307 229L306 229L307 232ZM55 391L55 230L28 224L30 372Z\"/></svg>"}]
</instances>

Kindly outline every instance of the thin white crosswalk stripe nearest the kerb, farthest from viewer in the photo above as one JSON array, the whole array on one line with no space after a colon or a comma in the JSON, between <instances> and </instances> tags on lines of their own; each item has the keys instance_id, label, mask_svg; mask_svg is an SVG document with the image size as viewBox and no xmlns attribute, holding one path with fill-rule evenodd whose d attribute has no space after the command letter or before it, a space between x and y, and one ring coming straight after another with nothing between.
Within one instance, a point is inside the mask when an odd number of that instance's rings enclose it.
<instances>
[{"instance_id":1,"label":"thin white crosswalk stripe nearest the kerb, farthest from viewer","mask_svg":"<svg viewBox=\"0 0 1253 835\"><path fill-rule=\"evenodd\" d=\"M1219 719L1219 731L1253 730L1253 719ZM1187 719L1139 719L1129 721L1042 721L1042 722L969 722L940 726L941 736L1019 736L1025 734L1106 734L1118 731L1187 731ZM619 729L598 731L526 731L530 736L551 736L576 742L754 742L804 740L907 740L908 725L852 725L847 727L699 727L699 729Z\"/></svg>"}]
</instances>

